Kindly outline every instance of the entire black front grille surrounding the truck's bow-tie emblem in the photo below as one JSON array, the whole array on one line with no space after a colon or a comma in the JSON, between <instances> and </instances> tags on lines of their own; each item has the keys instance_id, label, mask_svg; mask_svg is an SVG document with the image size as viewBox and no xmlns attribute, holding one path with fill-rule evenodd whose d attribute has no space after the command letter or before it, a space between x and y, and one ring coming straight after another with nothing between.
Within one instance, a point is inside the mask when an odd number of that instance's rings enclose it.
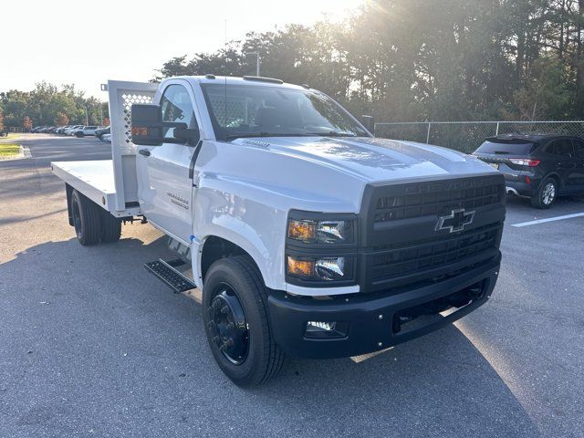
<instances>
[{"instance_id":1,"label":"entire black front grille surrounding the truck's bow-tie emblem","mask_svg":"<svg viewBox=\"0 0 584 438\"><path fill-rule=\"evenodd\" d=\"M500 255L505 200L502 174L371 184L363 196L366 214L360 216L362 290L396 291L494 260ZM473 217L462 231L436 229L458 209Z\"/></svg>"}]
</instances>

